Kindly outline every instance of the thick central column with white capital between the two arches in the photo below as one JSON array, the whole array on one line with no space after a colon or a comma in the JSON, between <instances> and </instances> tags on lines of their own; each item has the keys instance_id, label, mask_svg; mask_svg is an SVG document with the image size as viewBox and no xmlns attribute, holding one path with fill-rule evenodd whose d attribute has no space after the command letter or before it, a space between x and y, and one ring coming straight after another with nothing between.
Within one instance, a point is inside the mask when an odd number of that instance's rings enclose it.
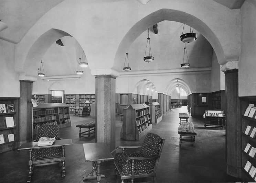
<instances>
[{"instance_id":1,"label":"thick central column with white capital between the two arches","mask_svg":"<svg viewBox=\"0 0 256 183\"><path fill-rule=\"evenodd\" d=\"M104 142L110 151L116 148L116 77L95 76L96 142Z\"/></svg>"}]
</instances>

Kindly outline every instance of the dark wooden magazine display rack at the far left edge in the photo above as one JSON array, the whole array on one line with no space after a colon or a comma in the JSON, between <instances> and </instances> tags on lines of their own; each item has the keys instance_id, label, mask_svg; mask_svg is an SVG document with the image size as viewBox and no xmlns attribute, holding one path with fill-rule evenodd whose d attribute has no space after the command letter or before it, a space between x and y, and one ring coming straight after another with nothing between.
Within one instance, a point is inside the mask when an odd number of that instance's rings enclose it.
<instances>
[{"instance_id":1,"label":"dark wooden magazine display rack at the far left edge","mask_svg":"<svg viewBox=\"0 0 256 183\"><path fill-rule=\"evenodd\" d=\"M0 98L0 153L17 148L18 99Z\"/></svg>"}]
</instances>

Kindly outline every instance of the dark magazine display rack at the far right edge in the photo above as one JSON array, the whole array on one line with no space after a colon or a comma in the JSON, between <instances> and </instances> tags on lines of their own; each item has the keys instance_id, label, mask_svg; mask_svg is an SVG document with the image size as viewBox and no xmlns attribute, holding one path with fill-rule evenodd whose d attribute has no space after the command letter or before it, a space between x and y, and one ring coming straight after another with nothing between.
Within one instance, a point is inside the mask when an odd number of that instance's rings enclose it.
<instances>
[{"instance_id":1,"label":"dark magazine display rack at the far right edge","mask_svg":"<svg viewBox=\"0 0 256 183\"><path fill-rule=\"evenodd\" d=\"M255 174L252 177L249 172L252 169L252 167L249 168L248 171L246 171L246 164L247 161L251 163L254 168L256 168L256 160L255 160L255 155L252 156L253 148L256 148L256 139L255 137L251 137L250 134L252 134L252 130L254 127L256 127L256 119L255 119L255 114L252 117L244 116L245 111L249 104L254 104L256 106L256 96L253 97L241 97L241 126L242 126L242 143L241 143L241 152L242 152L242 180L247 181L247 182L255 182ZM251 130L249 131L249 134L247 134L248 130L247 127L251 126ZM247 147L247 144L249 144L249 148ZM246 148L247 147L247 148ZM247 152L245 152L247 151ZM252 152L250 152L252 151Z\"/></svg>"}]
</instances>

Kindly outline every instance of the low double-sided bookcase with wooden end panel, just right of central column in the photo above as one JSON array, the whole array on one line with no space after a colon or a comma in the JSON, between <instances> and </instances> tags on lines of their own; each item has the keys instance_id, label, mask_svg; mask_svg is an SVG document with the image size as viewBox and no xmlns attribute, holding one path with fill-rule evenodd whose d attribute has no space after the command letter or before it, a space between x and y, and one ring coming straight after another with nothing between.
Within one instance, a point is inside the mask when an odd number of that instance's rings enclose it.
<instances>
[{"instance_id":1,"label":"low double-sided bookcase with wooden end panel, just right of central column","mask_svg":"<svg viewBox=\"0 0 256 183\"><path fill-rule=\"evenodd\" d=\"M124 108L124 122L120 137L125 140L139 140L152 129L149 106L132 104Z\"/></svg>"}]
</instances>

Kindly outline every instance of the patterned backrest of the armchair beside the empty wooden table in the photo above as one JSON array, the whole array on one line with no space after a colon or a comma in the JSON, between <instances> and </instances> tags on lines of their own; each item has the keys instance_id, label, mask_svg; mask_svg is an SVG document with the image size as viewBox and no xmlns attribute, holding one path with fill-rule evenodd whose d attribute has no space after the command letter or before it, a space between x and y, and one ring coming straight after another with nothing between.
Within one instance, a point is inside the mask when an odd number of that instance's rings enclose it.
<instances>
[{"instance_id":1,"label":"patterned backrest of the armchair beside the empty wooden table","mask_svg":"<svg viewBox=\"0 0 256 183\"><path fill-rule=\"evenodd\" d=\"M154 133L148 133L143 141L140 153L143 157L159 156L162 139Z\"/></svg>"}]
</instances>

